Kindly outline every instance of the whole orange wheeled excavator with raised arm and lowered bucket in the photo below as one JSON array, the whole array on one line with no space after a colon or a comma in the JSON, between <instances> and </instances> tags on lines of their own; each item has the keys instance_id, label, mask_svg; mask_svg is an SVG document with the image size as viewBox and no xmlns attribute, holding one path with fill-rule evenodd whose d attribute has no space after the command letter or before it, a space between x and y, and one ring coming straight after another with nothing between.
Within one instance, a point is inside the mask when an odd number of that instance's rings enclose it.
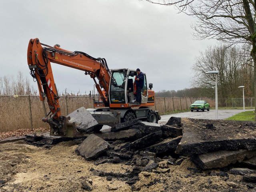
<instances>
[{"instance_id":1,"label":"whole orange wheeled excavator with raised arm and lowered bucket","mask_svg":"<svg viewBox=\"0 0 256 192\"><path fill-rule=\"evenodd\" d=\"M74 134L76 125L69 121L70 117L62 115L51 62L82 70L94 80L99 95L98 100L94 98L94 106L97 108L87 111L98 122L98 130L104 124L113 126L136 118L153 123L160 120L158 111L150 109L154 106L154 91L152 84L147 87L146 74L144 74L142 102L135 104L133 103L134 87L132 91L129 87L136 78L135 70L127 68L110 70L104 58L94 58L80 51L71 52L60 48L58 44L49 46L41 43L38 38L30 39L27 54L30 74L38 84L40 100L47 99L48 102L50 112L47 113L44 106L45 117L42 120L50 124L51 135L76 136Z\"/></svg>"}]
</instances>

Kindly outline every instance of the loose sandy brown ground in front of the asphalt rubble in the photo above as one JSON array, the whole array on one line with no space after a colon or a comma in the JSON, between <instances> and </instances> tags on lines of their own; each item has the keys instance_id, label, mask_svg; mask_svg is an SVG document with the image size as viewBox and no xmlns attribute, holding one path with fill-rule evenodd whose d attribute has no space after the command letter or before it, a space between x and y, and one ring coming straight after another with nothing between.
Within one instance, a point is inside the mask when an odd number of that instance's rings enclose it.
<instances>
[{"instance_id":1,"label":"loose sandy brown ground in front of the asphalt rubble","mask_svg":"<svg viewBox=\"0 0 256 192\"><path fill-rule=\"evenodd\" d=\"M164 124L164 122L161 122ZM140 172L132 186L118 178L101 177L92 170L125 173L132 169L123 163L95 165L75 152L74 141L61 142L51 148L26 144L24 140L0 144L0 192L247 192L254 184L241 175L225 174L226 168L198 171L190 159L180 165L158 167L159 172ZM164 169L167 171L164 173Z\"/></svg>"}]
</instances>

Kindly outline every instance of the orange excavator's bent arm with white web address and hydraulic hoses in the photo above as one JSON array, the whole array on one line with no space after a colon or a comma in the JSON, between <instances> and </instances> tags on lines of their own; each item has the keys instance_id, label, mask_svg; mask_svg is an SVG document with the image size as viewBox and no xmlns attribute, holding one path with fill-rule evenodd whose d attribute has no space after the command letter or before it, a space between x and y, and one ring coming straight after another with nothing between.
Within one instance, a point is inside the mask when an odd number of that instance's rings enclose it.
<instances>
[{"instance_id":1,"label":"orange excavator's bent arm with white web address and hydraulic hoses","mask_svg":"<svg viewBox=\"0 0 256 192\"><path fill-rule=\"evenodd\" d=\"M104 58L93 58L84 52L64 50L59 45L49 46L41 43L38 38L30 39L27 54L30 74L38 84L40 100L44 101L47 98L50 108L48 114L45 111L46 116L43 121L48 122L54 132L65 135L65 126L69 122L61 113L51 62L85 71L85 74L90 75L94 80L104 106L109 106L108 90L111 73Z\"/></svg>"}]
</instances>

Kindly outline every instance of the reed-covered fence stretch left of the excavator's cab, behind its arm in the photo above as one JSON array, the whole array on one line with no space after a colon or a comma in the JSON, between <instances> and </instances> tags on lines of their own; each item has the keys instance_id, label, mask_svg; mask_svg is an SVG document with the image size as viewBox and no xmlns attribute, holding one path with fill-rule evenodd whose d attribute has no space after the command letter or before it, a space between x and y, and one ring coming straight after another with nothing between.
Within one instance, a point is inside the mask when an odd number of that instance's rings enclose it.
<instances>
[{"instance_id":1,"label":"reed-covered fence stretch left of the excavator's cab, behind its arm","mask_svg":"<svg viewBox=\"0 0 256 192\"><path fill-rule=\"evenodd\" d=\"M60 96L59 101L64 116L81 106L94 108L89 97ZM44 101L44 104L49 112L47 102ZM0 96L0 132L49 127L47 123L42 122L44 116L44 107L39 96Z\"/></svg>"}]
</instances>

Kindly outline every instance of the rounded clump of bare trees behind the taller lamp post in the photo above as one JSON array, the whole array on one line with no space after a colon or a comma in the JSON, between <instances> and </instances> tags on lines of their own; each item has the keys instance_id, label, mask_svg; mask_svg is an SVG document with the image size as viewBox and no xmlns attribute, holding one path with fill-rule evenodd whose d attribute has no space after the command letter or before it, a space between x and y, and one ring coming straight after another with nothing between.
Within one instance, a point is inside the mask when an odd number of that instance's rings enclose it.
<instances>
[{"instance_id":1,"label":"rounded clump of bare trees behind the taller lamp post","mask_svg":"<svg viewBox=\"0 0 256 192\"><path fill-rule=\"evenodd\" d=\"M196 63L192 67L196 76L192 80L192 86L200 86L205 90L214 89L215 77L205 72L218 70L220 71L218 77L220 97L238 96L238 86L248 80L244 74L252 72L252 68L243 65L245 58L245 53L235 46L208 47L205 52L200 52L200 56L196 58Z\"/></svg>"}]
</instances>

